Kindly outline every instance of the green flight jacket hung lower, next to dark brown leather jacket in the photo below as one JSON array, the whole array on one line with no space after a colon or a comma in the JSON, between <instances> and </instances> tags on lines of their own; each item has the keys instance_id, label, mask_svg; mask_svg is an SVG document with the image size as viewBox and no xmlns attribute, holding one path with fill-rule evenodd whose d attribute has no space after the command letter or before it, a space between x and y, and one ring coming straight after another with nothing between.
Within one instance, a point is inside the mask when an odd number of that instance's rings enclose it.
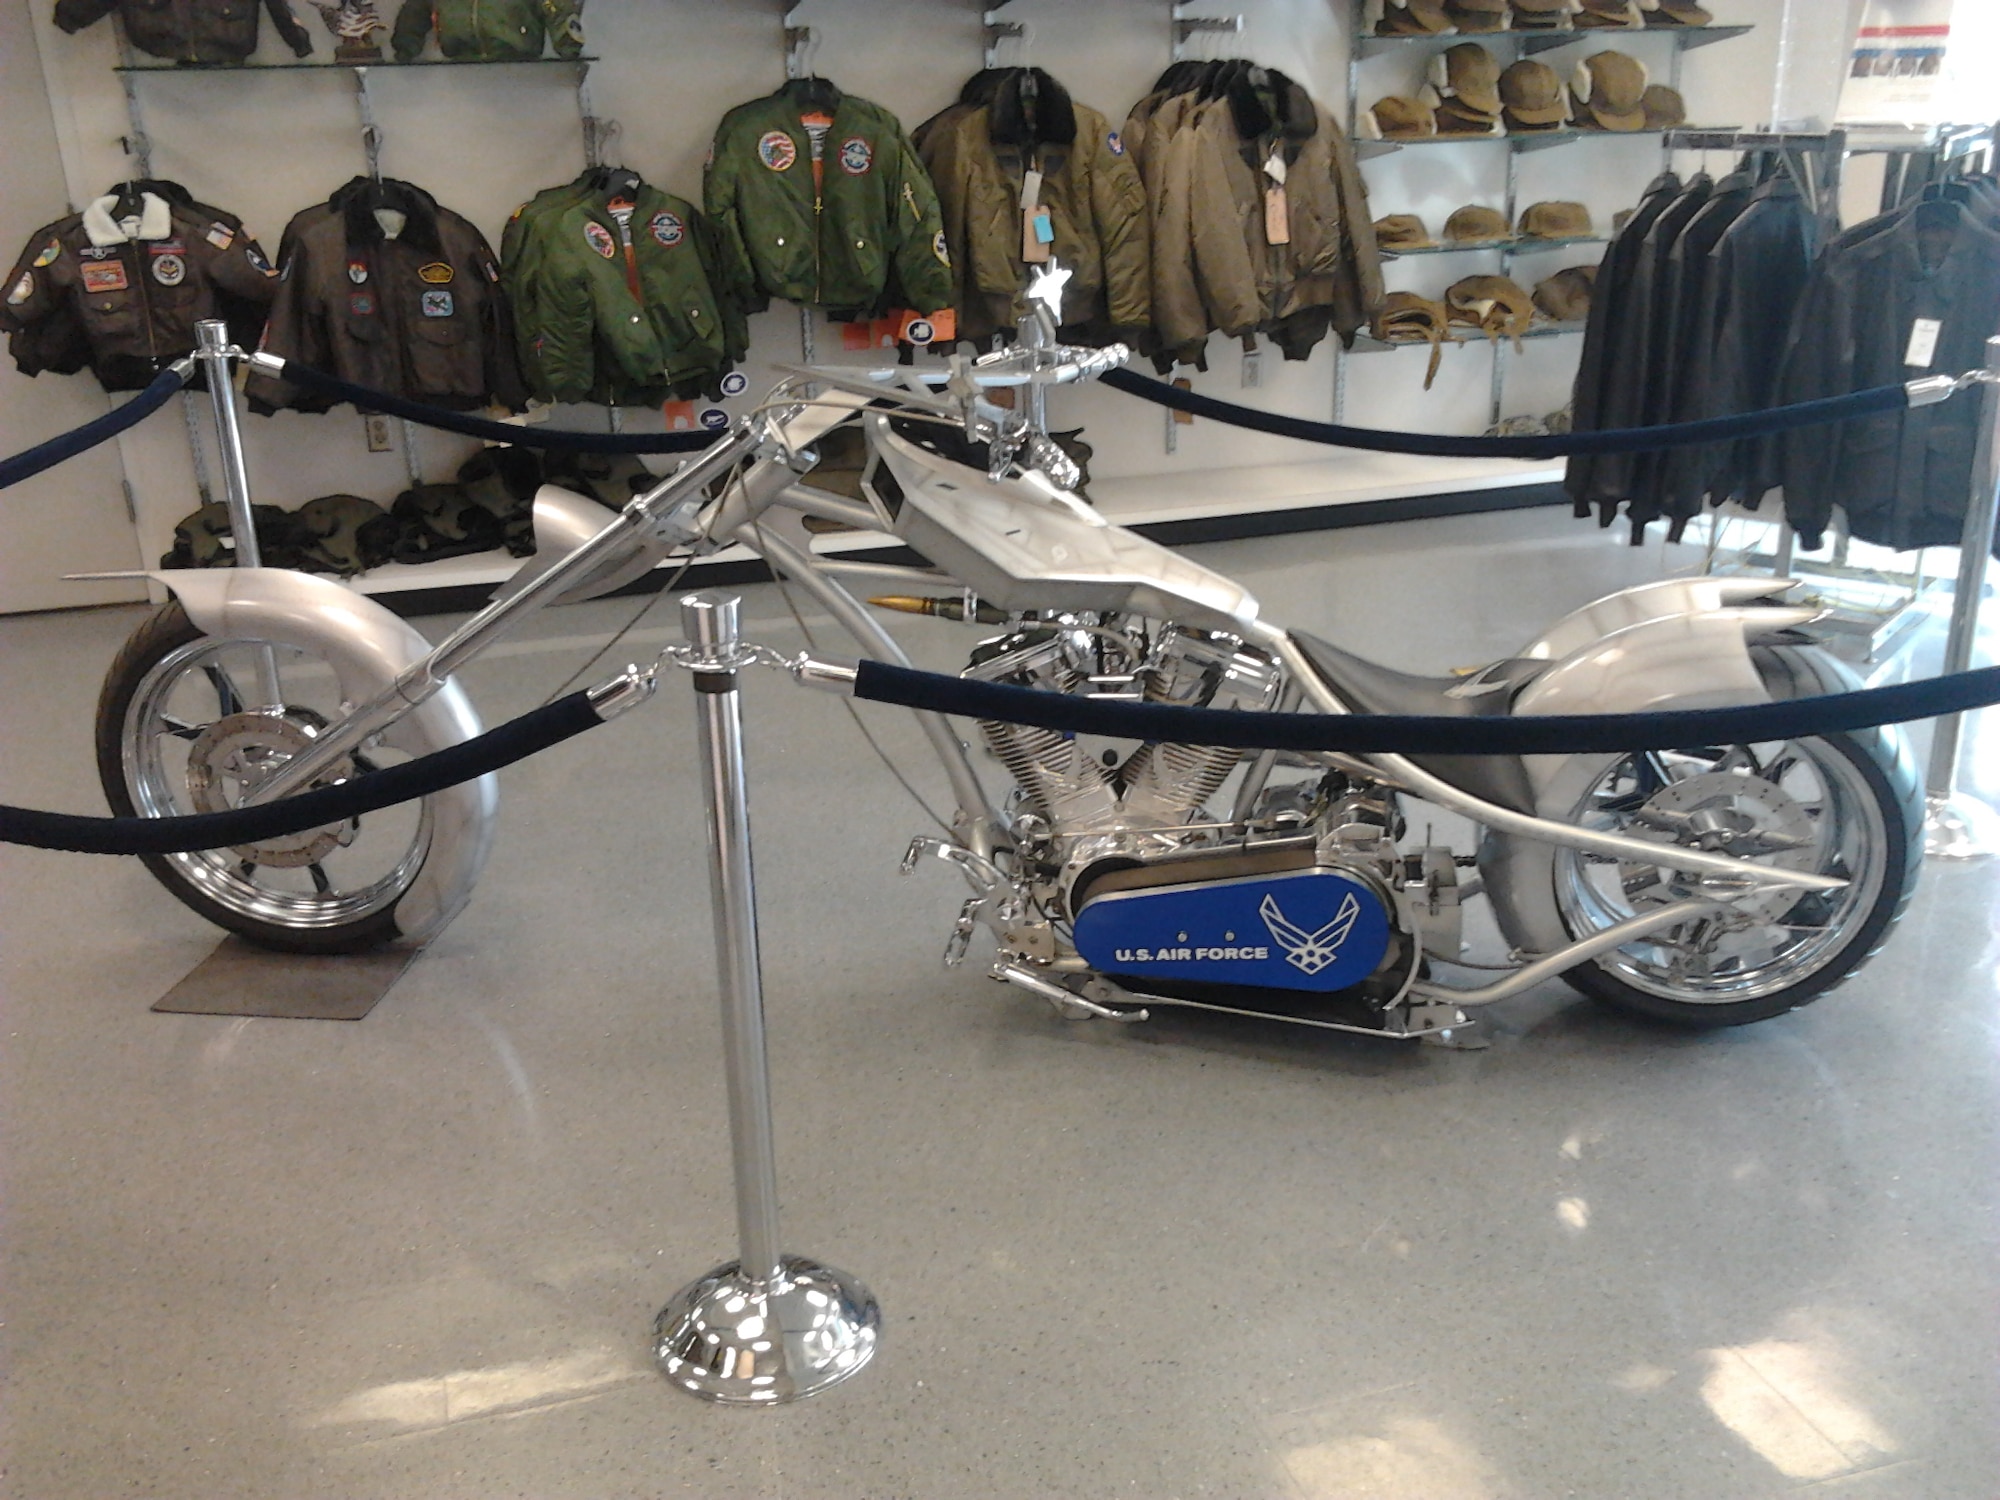
<instances>
[{"instance_id":1,"label":"green flight jacket hung lower, next to dark brown leather jacket","mask_svg":"<svg viewBox=\"0 0 2000 1500\"><path fill-rule=\"evenodd\" d=\"M530 390L614 404L720 396L748 334L714 230L660 188L630 178L590 186L590 176L542 194L510 224L508 284L522 296ZM620 214L616 202L632 210Z\"/></svg>"}]
</instances>

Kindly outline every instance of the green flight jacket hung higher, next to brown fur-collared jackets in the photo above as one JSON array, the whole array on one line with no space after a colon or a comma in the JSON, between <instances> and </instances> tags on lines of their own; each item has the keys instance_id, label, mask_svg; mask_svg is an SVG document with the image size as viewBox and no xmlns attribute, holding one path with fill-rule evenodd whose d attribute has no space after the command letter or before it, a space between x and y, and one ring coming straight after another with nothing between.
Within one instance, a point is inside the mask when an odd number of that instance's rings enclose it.
<instances>
[{"instance_id":1,"label":"green flight jacket hung higher, next to brown fur-collared jackets","mask_svg":"<svg viewBox=\"0 0 2000 1500\"><path fill-rule=\"evenodd\" d=\"M800 118L812 112L832 116L818 180ZM952 306L938 194L880 104L816 78L738 104L716 128L702 192L746 312L772 298L852 316Z\"/></svg>"}]
</instances>

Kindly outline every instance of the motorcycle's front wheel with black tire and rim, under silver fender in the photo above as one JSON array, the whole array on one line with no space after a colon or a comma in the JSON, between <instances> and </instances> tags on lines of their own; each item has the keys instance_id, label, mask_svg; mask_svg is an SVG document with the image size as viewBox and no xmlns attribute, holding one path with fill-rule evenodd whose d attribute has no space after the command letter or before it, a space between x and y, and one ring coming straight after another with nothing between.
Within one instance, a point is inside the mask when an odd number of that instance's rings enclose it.
<instances>
[{"instance_id":1,"label":"motorcycle's front wheel with black tire and rim, under silver fender","mask_svg":"<svg viewBox=\"0 0 2000 1500\"><path fill-rule=\"evenodd\" d=\"M266 704L266 660L280 702ZM180 604L126 640L98 696L98 778L112 812L220 812L340 712L332 668L296 646L202 634ZM324 780L402 756L356 752ZM344 954L410 936L398 902L440 838L430 798L262 844L142 856L180 902L282 952Z\"/></svg>"}]
</instances>

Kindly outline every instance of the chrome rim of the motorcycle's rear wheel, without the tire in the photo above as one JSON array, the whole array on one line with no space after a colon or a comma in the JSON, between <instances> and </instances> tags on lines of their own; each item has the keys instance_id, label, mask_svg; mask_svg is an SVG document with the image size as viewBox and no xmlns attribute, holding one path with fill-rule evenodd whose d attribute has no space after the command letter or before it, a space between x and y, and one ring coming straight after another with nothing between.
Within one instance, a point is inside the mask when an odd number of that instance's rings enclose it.
<instances>
[{"instance_id":1,"label":"chrome rim of the motorcycle's rear wheel, without the tire","mask_svg":"<svg viewBox=\"0 0 2000 1500\"><path fill-rule=\"evenodd\" d=\"M1860 766L1824 740L1644 752L1608 766L1570 814L1584 828L1840 876L1834 892L1738 896L1596 960L1634 990L1724 1006L1788 990L1854 942L1888 880L1888 828ZM1688 896L1726 894L1658 866L1558 850L1556 904L1584 938Z\"/></svg>"}]
</instances>

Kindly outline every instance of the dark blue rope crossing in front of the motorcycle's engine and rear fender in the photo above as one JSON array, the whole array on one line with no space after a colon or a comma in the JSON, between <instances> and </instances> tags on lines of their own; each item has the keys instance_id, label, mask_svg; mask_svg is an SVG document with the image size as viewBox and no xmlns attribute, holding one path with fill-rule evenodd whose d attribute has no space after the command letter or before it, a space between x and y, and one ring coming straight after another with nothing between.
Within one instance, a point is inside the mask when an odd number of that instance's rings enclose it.
<instances>
[{"instance_id":1,"label":"dark blue rope crossing in front of the motorcycle's engine and rear fender","mask_svg":"<svg viewBox=\"0 0 2000 1500\"><path fill-rule=\"evenodd\" d=\"M1104 734L1114 740L1406 756L1574 756L1762 744L1960 714L2000 702L2000 666L1902 682L1894 688L1864 688L1742 708L1520 718L1256 714L1236 708L1124 704L918 672L888 662L862 662L854 696L960 718L1034 724L1066 734Z\"/></svg>"}]
</instances>

